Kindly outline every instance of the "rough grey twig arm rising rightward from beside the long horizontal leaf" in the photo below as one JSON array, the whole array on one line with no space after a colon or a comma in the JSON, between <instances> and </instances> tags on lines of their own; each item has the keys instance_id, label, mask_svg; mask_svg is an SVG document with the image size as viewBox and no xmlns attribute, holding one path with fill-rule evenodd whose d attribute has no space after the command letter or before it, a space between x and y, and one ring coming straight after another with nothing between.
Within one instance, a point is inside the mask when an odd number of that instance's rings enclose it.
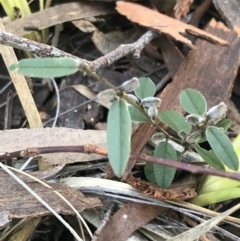
<instances>
[{"instance_id":1,"label":"rough grey twig arm rising rightward from beside the long horizontal leaf","mask_svg":"<svg viewBox=\"0 0 240 241\"><path fill-rule=\"evenodd\" d=\"M158 33L149 30L143 34L136 42L131 44L121 44L112 52L90 62L89 66L93 69L93 71L97 71L98 69L109 66L120 58L129 54L133 54L136 58L139 58L140 52L144 49L146 44L150 43L157 36Z\"/></svg>"}]
</instances>

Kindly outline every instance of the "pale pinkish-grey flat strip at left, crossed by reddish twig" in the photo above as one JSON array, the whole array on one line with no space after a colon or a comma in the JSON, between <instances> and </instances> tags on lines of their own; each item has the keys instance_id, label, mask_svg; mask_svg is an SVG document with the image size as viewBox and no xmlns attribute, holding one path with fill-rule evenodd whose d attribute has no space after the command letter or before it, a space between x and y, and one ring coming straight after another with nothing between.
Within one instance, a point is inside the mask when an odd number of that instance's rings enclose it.
<instances>
[{"instance_id":1,"label":"pale pinkish-grey flat strip at left, crossed by reddish twig","mask_svg":"<svg viewBox=\"0 0 240 241\"><path fill-rule=\"evenodd\" d=\"M16 129L0 131L1 152L19 151L29 147L76 146L93 144L106 149L106 131L70 128ZM51 165L86 162L103 157L84 153L53 153L41 155Z\"/></svg>"}]
</instances>

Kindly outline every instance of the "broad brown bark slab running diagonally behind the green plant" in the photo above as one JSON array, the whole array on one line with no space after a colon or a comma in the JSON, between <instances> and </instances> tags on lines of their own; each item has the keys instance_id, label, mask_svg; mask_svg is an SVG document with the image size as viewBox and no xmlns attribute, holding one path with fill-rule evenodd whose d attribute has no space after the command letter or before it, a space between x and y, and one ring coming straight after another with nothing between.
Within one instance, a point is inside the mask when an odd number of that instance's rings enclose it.
<instances>
[{"instance_id":1,"label":"broad brown bark slab running diagonally behind the green plant","mask_svg":"<svg viewBox=\"0 0 240 241\"><path fill-rule=\"evenodd\" d=\"M189 53L172 83L160 95L163 100L160 110L182 111L178 96L186 88L199 90L208 107L226 102L230 97L240 63L240 39L234 30L229 31L215 21L210 22L206 31L226 39L231 47L219 48L199 39L197 49ZM155 128L148 123L141 125L132 138L132 152L139 153L154 131ZM133 161L128 163L126 175L133 166Z\"/></svg>"}]
</instances>

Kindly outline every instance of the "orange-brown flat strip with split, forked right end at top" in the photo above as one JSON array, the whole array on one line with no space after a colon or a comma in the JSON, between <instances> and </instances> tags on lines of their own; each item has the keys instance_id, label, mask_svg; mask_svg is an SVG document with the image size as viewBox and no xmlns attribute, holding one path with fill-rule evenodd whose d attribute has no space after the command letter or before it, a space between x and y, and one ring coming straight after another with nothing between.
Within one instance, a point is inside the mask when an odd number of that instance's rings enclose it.
<instances>
[{"instance_id":1,"label":"orange-brown flat strip with split, forked right end at top","mask_svg":"<svg viewBox=\"0 0 240 241\"><path fill-rule=\"evenodd\" d=\"M192 45L190 40L182 35L189 33L191 35L201 37L202 39L211 41L215 44L229 46L228 42L215 37L212 34L138 4L119 1L117 2L116 9L119 13L125 15L130 21L141 24L148 28L152 28L160 33L170 35L175 40L178 40L193 49L196 47Z\"/></svg>"}]
</instances>

